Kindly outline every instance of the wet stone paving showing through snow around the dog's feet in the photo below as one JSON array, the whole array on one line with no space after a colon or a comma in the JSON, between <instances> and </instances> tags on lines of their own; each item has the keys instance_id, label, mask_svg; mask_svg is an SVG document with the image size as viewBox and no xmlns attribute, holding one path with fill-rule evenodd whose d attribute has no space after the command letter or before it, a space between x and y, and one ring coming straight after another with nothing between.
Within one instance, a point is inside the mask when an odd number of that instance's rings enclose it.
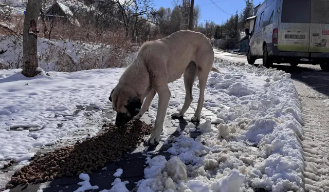
<instances>
[{"instance_id":1,"label":"wet stone paving showing through snow around the dog's feet","mask_svg":"<svg viewBox=\"0 0 329 192\"><path fill-rule=\"evenodd\" d=\"M179 79L182 81L182 79ZM184 83L181 83L182 87L179 86L179 88L171 89L172 91L172 98L175 97L175 94L184 94L185 95L185 89L184 89ZM196 90L195 90L196 91ZM198 89L197 89L198 91ZM195 95L196 100L198 98L198 95ZM195 109L197 106L196 100L194 100L186 112L185 116L192 117L195 113ZM153 100L152 103L157 102L157 97ZM182 105L183 103L180 103ZM112 118L115 117L115 112L113 112L111 103L108 103L106 105L106 108L109 110L104 110L106 118ZM156 112L156 109L152 108L153 111ZM85 111L85 115L88 115L88 112L94 110L99 111L99 109L95 108L95 105L89 105L87 108L83 108L83 106L78 106L77 111L75 114L78 114L79 111ZM175 106L169 106L168 111L171 113L177 112L177 107ZM216 115L213 114L211 111L203 108L202 110L202 119L201 122L205 122L205 119L207 118L216 118ZM145 113L141 121L144 121L148 124L153 124L151 122L152 118L148 116L148 113ZM184 130L188 122L185 119L172 119L170 115L166 115L164 126L167 127L168 131L168 139L173 136L179 136L180 133L176 131L177 127L173 125L173 123L179 124L180 129ZM191 133L190 136L195 138L200 133L194 132ZM168 140L167 139L167 140ZM168 143L168 142L167 142ZM163 141L160 141L160 143L156 147L148 147L145 148L143 143L141 143L138 147L132 148L129 152L124 154L120 160L117 162L108 162L104 165L106 168L100 168L95 170L92 174L89 174L90 176L90 184L99 186L99 189L93 190L93 191L100 191L103 189L111 189L112 185L111 183L115 180L115 177L113 174L116 172L116 169L122 168L123 174L119 177L122 181L129 181L129 184L126 185L127 189L130 191L136 191L136 183L139 180L144 179L144 173L143 170L147 166L145 165L145 158L147 158L147 155L153 158L157 155L163 155L169 160L170 154L166 153L168 148L171 147L171 143L164 144ZM151 152L151 153L148 153ZM70 178L60 178L56 179L52 182L50 182L49 186L46 188L43 188L43 192L68 192L68 191L74 191L77 188L79 188L81 185L78 185L77 183L81 182L82 180L79 179L78 176L70 177ZM42 185L42 184L41 184ZM23 188L23 186L17 186L10 190L10 192L18 192L18 191L28 191L28 192L37 192L40 187L40 184L30 184L27 188Z\"/></svg>"}]
</instances>

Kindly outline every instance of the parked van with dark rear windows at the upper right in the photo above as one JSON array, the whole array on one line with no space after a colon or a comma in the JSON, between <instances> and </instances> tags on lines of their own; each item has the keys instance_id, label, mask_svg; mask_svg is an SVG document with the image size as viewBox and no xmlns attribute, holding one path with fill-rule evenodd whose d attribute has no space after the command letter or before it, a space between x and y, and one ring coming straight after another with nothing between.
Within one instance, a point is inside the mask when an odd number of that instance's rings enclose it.
<instances>
[{"instance_id":1,"label":"parked van with dark rear windows at the upper right","mask_svg":"<svg viewBox=\"0 0 329 192\"><path fill-rule=\"evenodd\" d=\"M251 20L248 63L320 64L329 71L329 0L265 0Z\"/></svg>"}]
</instances>

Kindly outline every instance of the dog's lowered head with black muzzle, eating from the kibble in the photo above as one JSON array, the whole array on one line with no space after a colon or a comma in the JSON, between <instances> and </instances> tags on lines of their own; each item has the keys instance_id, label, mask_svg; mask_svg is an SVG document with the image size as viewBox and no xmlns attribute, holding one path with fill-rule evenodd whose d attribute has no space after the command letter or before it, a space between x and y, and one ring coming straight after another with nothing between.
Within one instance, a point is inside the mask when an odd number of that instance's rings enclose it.
<instances>
[{"instance_id":1,"label":"dog's lowered head with black muzzle, eating from the kibble","mask_svg":"<svg viewBox=\"0 0 329 192\"><path fill-rule=\"evenodd\" d=\"M137 93L124 86L117 86L109 95L112 108L117 112L116 126L123 126L136 116L142 106L141 98Z\"/></svg>"}]
</instances>

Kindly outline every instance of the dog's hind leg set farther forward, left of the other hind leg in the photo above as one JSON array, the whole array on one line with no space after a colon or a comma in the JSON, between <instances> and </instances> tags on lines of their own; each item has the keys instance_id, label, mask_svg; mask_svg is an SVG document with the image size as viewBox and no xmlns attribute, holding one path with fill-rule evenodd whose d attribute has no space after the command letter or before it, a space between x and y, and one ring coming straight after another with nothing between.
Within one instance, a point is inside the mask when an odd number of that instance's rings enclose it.
<instances>
[{"instance_id":1,"label":"dog's hind leg set farther forward, left of the other hind leg","mask_svg":"<svg viewBox=\"0 0 329 192\"><path fill-rule=\"evenodd\" d=\"M181 108L179 113L173 113L172 118L181 118L184 116L185 112L189 109L190 104L193 100L192 89L194 79L196 77L196 65L194 61L191 61L189 66L186 68L184 72L184 84L185 84L185 101L184 105Z\"/></svg>"}]
</instances>

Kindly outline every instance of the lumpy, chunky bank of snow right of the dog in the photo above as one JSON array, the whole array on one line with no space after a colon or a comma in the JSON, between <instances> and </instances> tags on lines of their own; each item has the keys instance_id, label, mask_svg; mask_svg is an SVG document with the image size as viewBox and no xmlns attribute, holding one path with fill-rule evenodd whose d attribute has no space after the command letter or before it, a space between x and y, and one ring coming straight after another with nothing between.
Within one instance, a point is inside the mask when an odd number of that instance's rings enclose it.
<instances>
[{"instance_id":1,"label":"lumpy, chunky bank of snow right of the dog","mask_svg":"<svg viewBox=\"0 0 329 192\"><path fill-rule=\"evenodd\" d=\"M138 191L301 190L303 120L290 75L227 60L215 66L222 74L209 75L204 106L217 118L178 126L170 160L147 158Z\"/></svg>"}]
</instances>

